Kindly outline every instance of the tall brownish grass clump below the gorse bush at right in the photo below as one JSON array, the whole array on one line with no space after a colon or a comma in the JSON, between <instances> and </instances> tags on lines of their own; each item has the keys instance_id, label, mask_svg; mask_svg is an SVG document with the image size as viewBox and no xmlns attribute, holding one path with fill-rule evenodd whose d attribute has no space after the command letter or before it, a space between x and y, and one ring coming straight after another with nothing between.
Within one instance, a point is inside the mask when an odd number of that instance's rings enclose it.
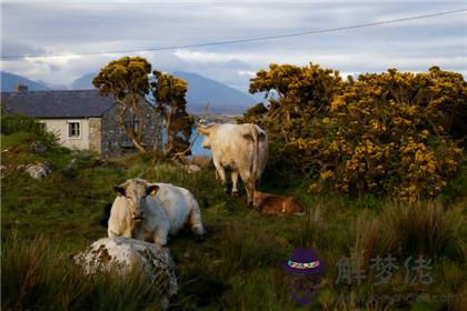
<instances>
[{"instance_id":1,"label":"tall brownish grass clump below the gorse bush at right","mask_svg":"<svg viewBox=\"0 0 467 311\"><path fill-rule=\"evenodd\" d=\"M360 215L355 232L355 251L366 261L377 254L409 257L423 254L437 260L463 262L460 208L447 210L439 202L393 203L377 218Z\"/></svg>"}]
</instances>

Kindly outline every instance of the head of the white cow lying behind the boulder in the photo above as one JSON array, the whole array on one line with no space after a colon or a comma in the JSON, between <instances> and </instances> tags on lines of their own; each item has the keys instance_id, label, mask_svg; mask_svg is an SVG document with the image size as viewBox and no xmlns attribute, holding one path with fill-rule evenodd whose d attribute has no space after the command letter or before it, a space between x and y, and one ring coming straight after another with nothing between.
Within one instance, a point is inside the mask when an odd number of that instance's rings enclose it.
<instances>
[{"instance_id":1,"label":"head of the white cow lying behind the boulder","mask_svg":"<svg viewBox=\"0 0 467 311\"><path fill-rule=\"evenodd\" d=\"M127 201L133 221L145 219L146 199L148 195L156 195L159 187L142 179L130 179L120 185L113 187L117 195L123 197Z\"/></svg>"}]
</instances>

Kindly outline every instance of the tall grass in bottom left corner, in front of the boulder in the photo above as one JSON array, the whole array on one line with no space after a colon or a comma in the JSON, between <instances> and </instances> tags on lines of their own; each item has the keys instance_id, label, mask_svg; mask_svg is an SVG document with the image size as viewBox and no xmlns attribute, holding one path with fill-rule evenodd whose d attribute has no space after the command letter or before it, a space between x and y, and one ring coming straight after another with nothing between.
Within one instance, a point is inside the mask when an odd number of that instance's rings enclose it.
<instances>
[{"instance_id":1,"label":"tall grass in bottom left corner, in front of the boulder","mask_svg":"<svg viewBox=\"0 0 467 311\"><path fill-rule=\"evenodd\" d=\"M157 284L140 273L85 275L44 238L2 243L2 310L142 310L160 308Z\"/></svg>"}]
</instances>

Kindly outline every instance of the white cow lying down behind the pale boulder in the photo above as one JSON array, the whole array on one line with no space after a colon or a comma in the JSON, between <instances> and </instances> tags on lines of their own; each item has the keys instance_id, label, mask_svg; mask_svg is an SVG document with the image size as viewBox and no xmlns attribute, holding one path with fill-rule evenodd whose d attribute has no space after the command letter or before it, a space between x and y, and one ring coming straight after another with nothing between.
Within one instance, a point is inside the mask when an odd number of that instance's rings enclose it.
<instances>
[{"instance_id":1,"label":"white cow lying down behind the pale boulder","mask_svg":"<svg viewBox=\"0 0 467 311\"><path fill-rule=\"evenodd\" d=\"M198 202L190 191L169 183L129 179L116 185L118 197L110 211L108 234L167 243L167 235L189 225L197 240L205 228Z\"/></svg>"}]
</instances>

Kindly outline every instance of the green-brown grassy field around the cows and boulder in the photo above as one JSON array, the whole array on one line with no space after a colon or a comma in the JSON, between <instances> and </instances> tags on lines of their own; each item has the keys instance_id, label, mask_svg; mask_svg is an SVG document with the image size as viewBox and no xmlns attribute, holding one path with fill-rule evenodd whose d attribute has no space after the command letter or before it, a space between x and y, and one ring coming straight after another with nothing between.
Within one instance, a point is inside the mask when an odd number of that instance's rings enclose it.
<instances>
[{"instance_id":1,"label":"green-brown grassy field around the cows and boulder","mask_svg":"<svg viewBox=\"0 0 467 311\"><path fill-rule=\"evenodd\" d=\"M171 182L192 191L208 235L195 243L180 233L169 241L179 293L171 310L465 310L467 305L467 170L434 201L407 205L374 197L311 195L298 185L269 179L261 189L291 194L305 217L259 214L246 198L227 195L211 167L187 174L169 162L141 157L98 160L52 149L29 152L28 133L2 136L1 180L3 310L157 310L157 291L143 282L111 275L83 279L69 257L106 237L99 225L112 185L127 178ZM74 168L67 168L77 159ZM46 160L53 172L33 180L19 164ZM299 307L289 298L281 263L297 248L312 248L327 265L316 301ZM387 284L374 285L371 259L391 254L397 269ZM407 282L409 257L430 260L431 282ZM360 263L365 279L339 282L337 263ZM413 268L413 265L410 265ZM410 270L411 271L411 270ZM414 270L415 271L415 270ZM415 273L415 272L414 272ZM409 297L409 299L407 299Z\"/></svg>"}]
</instances>

